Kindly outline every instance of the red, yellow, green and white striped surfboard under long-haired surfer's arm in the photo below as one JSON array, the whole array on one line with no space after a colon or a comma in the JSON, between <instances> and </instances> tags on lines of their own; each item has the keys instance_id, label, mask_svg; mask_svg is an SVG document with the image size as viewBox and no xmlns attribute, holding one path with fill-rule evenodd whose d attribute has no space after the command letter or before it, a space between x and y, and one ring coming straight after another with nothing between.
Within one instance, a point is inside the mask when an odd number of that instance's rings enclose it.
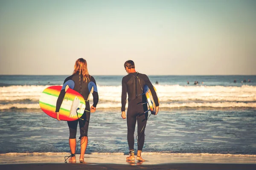
<instances>
[{"instance_id":1,"label":"red, yellow, green and white striped surfboard under long-haired surfer's arm","mask_svg":"<svg viewBox=\"0 0 256 170\"><path fill-rule=\"evenodd\" d=\"M39 99L39 105L42 111L55 119L56 103L61 92L61 88L62 86L57 85L50 86L44 89ZM78 108L79 110L77 111ZM85 101L83 96L81 96L81 94L79 94L77 91L68 88L61 104L59 118L65 121L77 120L83 115L84 109Z\"/></svg>"}]
</instances>

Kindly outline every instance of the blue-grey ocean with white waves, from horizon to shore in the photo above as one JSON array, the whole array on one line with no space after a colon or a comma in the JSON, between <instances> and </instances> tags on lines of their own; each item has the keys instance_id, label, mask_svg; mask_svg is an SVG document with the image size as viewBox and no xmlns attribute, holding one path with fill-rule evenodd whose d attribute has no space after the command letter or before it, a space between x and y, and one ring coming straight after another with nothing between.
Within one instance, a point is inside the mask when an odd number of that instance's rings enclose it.
<instances>
[{"instance_id":1,"label":"blue-grey ocean with white waves, from horizon to shore","mask_svg":"<svg viewBox=\"0 0 256 170\"><path fill-rule=\"evenodd\" d=\"M62 85L66 77L0 75L0 155L70 152L67 122L39 107L41 92ZM91 113L86 153L127 154L123 76L93 77L99 104ZM148 119L143 153L256 155L256 76L148 77L157 89L160 112Z\"/></svg>"}]
</instances>

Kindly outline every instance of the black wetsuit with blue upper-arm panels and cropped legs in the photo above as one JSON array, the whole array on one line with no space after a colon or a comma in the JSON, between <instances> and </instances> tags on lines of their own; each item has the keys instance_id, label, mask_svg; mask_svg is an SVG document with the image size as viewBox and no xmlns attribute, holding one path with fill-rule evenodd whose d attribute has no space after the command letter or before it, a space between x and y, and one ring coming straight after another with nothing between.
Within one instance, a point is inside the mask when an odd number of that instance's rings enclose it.
<instances>
[{"instance_id":1,"label":"black wetsuit with blue upper-arm panels and cropped legs","mask_svg":"<svg viewBox=\"0 0 256 170\"><path fill-rule=\"evenodd\" d=\"M81 116L81 119L75 120L75 121L67 121L67 125L70 130L70 139L76 139L76 130L77 130L77 124L79 122L79 129L80 129L80 137L87 136L88 133L88 127L89 127L89 121L90 121L90 92L93 94L93 107L96 108L96 105L99 101L99 95L97 91L96 81L95 79L89 75L89 79L87 78L83 80L83 77L81 76L81 79L79 79L79 74L73 74L70 77L67 77L63 83L61 93L58 96L57 104L56 104L56 112L60 110L61 103L65 96L65 88L66 86L69 86L69 88L79 92L85 100L85 111L84 114Z\"/></svg>"}]
</instances>

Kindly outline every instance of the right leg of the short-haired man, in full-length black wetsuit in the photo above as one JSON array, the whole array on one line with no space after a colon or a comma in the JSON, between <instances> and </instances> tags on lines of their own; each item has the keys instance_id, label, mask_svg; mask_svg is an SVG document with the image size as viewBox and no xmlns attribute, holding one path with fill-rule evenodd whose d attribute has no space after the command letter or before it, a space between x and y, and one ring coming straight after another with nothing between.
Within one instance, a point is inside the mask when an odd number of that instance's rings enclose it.
<instances>
[{"instance_id":1,"label":"right leg of the short-haired man, in full-length black wetsuit","mask_svg":"<svg viewBox=\"0 0 256 170\"><path fill-rule=\"evenodd\" d=\"M137 152L137 160L145 161L141 157L141 152L145 142L145 128L147 124L148 113L145 113L141 116L137 116L137 123L138 123L138 152Z\"/></svg>"}]
</instances>

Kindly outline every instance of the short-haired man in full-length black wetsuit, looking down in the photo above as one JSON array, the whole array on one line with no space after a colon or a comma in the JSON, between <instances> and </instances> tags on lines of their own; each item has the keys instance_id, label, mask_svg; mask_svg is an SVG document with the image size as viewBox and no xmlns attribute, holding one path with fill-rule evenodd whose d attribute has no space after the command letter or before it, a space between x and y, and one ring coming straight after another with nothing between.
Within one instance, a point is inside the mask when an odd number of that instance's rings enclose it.
<instances>
[{"instance_id":1,"label":"short-haired man in full-length black wetsuit, looking down","mask_svg":"<svg viewBox=\"0 0 256 170\"><path fill-rule=\"evenodd\" d=\"M132 60L128 60L124 64L125 70L128 73L125 77L122 78L122 118L125 119L125 104L126 96L128 93L128 109L127 109L127 140L130 149L130 156L126 160L134 160L134 131L136 126L136 121L138 123L138 152L137 160L145 161L141 157L141 152L145 140L145 127L148 119L148 108L146 103L145 94L143 94L144 85L148 85L151 90L154 102L156 104L156 114L159 110L159 102L157 98L156 91L152 83L149 81L148 77L145 74L140 74L135 71L135 65ZM142 95L143 94L143 95ZM146 112L146 113L145 113Z\"/></svg>"}]
</instances>

